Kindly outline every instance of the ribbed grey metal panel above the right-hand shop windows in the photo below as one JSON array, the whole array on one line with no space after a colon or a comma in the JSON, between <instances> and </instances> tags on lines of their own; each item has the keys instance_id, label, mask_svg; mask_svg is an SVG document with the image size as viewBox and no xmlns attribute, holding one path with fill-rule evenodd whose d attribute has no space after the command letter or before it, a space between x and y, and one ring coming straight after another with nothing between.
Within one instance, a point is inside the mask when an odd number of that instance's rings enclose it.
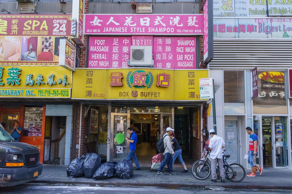
<instances>
[{"instance_id":1,"label":"ribbed grey metal panel above the right-hand shop windows","mask_svg":"<svg viewBox=\"0 0 292 194\"><path fill-rule=\"evenodd\" d=\"M210 69L291 68L292 39L214 38Z\"/></svg>"}]
</instances>

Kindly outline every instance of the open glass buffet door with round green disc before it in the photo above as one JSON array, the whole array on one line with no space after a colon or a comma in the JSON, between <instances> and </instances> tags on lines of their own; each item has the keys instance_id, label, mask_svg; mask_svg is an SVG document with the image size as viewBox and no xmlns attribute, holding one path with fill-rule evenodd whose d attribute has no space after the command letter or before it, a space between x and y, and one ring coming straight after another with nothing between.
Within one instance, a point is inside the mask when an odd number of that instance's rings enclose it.
<instances>
[{"instance_id":1,"label":"open glass buffet door with round green disc before it","mask_svg":"<svg viewBox=\"0 0 292 194\"><path fill-rule=\"evenodd\" d=\"M130 114L111 113L110 128L110 161L120 161L127 157L127 141L125 136L130 127Z\"/></svg>"}]
</instances>

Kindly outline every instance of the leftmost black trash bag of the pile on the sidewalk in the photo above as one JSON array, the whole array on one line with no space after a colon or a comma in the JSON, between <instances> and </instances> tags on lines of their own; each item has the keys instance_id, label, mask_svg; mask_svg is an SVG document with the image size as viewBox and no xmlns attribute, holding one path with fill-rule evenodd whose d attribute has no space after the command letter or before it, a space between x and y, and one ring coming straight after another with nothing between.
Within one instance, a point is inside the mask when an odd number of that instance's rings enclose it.
<instances>
[{"instance_id":1,"label":"leftmost black trash bag of the pile on the sidewalk","mask_svg":"<svg viewBox=\"0 0 292 194\"><path fill-rule=\"evenodd\" d=\"M83 162L85 156L81 156L80 158L73 159L68 168L67 168L67 177L75 178L75 177L83 177Z\"/></svg>"}]
</instances>

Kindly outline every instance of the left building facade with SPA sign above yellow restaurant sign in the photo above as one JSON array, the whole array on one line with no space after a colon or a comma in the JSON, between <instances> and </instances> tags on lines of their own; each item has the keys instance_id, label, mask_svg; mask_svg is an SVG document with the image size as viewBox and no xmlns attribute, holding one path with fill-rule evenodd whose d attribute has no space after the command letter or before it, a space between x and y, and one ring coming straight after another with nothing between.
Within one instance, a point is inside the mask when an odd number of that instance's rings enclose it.
<instances>
[{"instance_id":1,"label":"left building facade with SPA sign above yellow restaurant sign","mask_svg":"<svg viewBox=\"0 0 292 194\"><path fill-rule=\"evenodd\" d=\"M8 132L19 122L20 141L39 148L41 163L68 165L72 71L59 66L59 42L70 38L72 15L22 13L14 1L1 8L0 120Z\"/></svg>"}]
</instances>

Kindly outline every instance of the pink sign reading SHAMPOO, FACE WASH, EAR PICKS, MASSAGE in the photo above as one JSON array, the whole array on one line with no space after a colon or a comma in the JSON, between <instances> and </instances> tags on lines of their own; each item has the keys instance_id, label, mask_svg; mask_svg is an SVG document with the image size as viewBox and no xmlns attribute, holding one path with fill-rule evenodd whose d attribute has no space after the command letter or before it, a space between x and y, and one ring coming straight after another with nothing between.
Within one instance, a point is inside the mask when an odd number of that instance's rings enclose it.
<instances>
[{"instance_id":1,"label":"pink sign reading SHAMPOO, FACE WASH, EAR PICKS, MASSAGE","mask_svg":"<svg viewBox=\"0 0 292 194\"><path fill-rule=\"evenodd\" d=\"M154 67L158 69L196 69L195 37L154 37Z\"/></svg>"}]
</instances>

